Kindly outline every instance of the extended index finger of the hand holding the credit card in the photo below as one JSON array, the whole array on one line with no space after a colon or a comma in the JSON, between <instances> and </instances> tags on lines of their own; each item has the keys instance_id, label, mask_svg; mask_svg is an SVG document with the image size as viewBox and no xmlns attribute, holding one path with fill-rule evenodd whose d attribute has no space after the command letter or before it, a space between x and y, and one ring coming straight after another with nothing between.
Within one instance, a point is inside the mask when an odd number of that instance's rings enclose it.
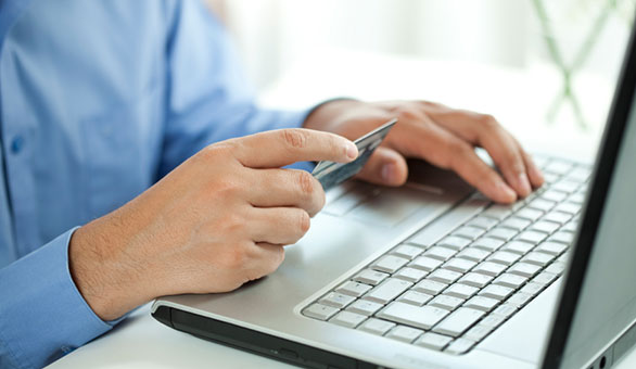
<instances>
[{"instance_id":1,"label":"extended index finger of the hand holding the credit card","mask_svg":"<svg viewBox=\"0 0 636 369\"><path fill-rule=\"evenodd\" d=\"M236 157L246 167L278 168L296 162L347 163L356 145L342 136L304 128L277 129L236 139Z\"/></svg>"}]
</instances>

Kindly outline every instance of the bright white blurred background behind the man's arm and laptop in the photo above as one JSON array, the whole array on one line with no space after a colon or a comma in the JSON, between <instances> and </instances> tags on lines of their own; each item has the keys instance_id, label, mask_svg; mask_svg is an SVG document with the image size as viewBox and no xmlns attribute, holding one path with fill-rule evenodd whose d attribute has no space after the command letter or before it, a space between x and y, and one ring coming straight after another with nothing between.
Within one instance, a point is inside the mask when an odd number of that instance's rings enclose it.
<instances>
[{"instance_id":1,"label":"bright white blurred background behind the man's arm and laptop","mask_svg":"<svg viewBox=\"0 0 636 369\"><path fill-rule=\"evenodd\" d=\"M577 139L590 154L636 3L206 1L231 30L265 104L300 107L334 96L433 100L492 113L542 149Z\"/></svg>"}]
</instances>

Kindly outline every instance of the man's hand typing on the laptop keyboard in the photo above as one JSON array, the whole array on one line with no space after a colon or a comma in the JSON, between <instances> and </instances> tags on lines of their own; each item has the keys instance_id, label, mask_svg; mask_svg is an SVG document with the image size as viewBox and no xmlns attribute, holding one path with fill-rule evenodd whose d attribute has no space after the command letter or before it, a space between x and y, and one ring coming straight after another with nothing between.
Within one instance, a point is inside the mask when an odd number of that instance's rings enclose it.
<instances>
[{"instance_id":1,"label":"man's hand typing on the laptop keyboard","mask_svg":"<svg viewBox=\"0 0 636 369\"><path fill-rule=\"evenodd\" d=\"M489 115L424 101L328 102L314 111L305 127L356 139L389 119L399 120L358 175L365 180L400 186L407 179L405 157L423 158L453 169L494 201L511 203L543 184L543 176L519 142ZM474 152L484 148L501 171Z\"/></svg>"}]
</instances>

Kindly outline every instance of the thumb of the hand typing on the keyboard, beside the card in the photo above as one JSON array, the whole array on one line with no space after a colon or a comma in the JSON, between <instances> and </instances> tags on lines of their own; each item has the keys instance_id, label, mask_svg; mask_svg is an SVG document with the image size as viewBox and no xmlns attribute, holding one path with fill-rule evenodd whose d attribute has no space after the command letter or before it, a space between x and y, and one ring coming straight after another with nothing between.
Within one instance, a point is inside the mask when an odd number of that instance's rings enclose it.
<instances>
[{"instance_id":1,"label":"thumb of the hand typing on the keyboard, beside the card","mask_svg":"<svg viewBox=\"0 0 636 369\"><path fill-rule=\"evenodd\" d=\"M402 186L408 177L406 160L397 151L379 147L357 178L383 186Z\"/></svg>"}]
</instances>

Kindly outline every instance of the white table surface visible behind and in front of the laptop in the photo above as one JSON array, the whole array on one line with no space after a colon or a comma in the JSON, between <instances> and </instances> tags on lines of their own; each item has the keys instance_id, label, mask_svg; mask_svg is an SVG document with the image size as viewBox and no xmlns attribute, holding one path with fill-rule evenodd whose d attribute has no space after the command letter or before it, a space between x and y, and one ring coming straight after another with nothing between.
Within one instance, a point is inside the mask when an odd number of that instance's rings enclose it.
<instances>
[{"instance_id":1,"label":"white table surface visible behind and in front of the laptop","mask_svg":"<svg viewBox=\"0 0 636 369\"><path fill-rule=\"evenodd\" d=\"M592 158L599 141L613 86L584 76L590 120L577 129L567 113L544 122L543 106L559 86L558 76L542 67L531 71L466 63L405 60L339 51L317 52L262 98L267 105L306 106L333 96L368 100L427 99L494 114L526 148L577 158ZM316 56L318 55L318 56ZM323 55L320 59L320 55ZM547 91L547 92L546 92ZM565 110L567 111L567 110ZM150 305L135 311L107 334L76 349L49 368L293 368L290 365L201 340L173 330L150 316ZM614 368L636 368L633 348Z\"/></svg>"}]
</instances>

